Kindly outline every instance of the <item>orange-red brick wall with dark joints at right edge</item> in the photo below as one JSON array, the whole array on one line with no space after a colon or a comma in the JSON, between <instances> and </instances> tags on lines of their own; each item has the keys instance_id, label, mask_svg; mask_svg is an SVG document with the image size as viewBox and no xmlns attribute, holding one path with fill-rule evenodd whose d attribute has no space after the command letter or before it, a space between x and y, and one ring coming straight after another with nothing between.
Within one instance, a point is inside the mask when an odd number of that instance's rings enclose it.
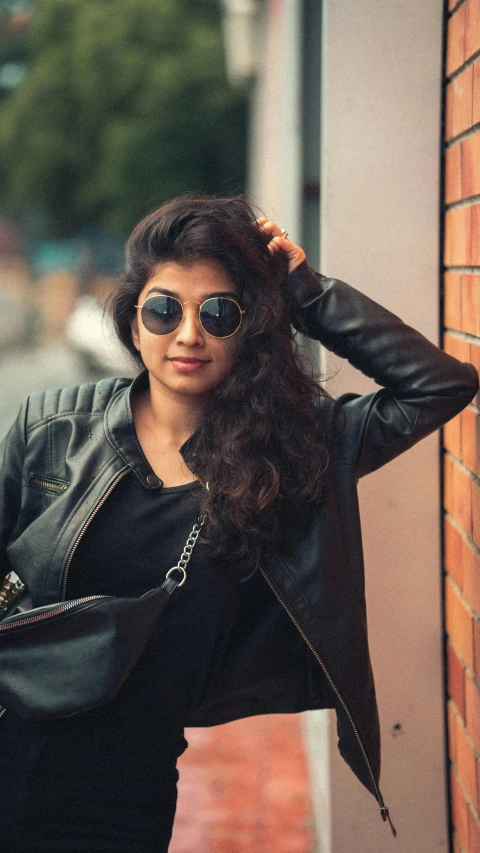
<instances>
[{"instance_id":1,"label":"orange-red brick wall with dark joints at right edge","mask_svg":"<svg viewBox=\"0 0 480 853\"><path fill-rule=\"evenodd\" d=\"M480 0L448 2L444 347L480 369ZM444 429L453 848L480 853L480 395Z\"/></svg>"}]
</instances>

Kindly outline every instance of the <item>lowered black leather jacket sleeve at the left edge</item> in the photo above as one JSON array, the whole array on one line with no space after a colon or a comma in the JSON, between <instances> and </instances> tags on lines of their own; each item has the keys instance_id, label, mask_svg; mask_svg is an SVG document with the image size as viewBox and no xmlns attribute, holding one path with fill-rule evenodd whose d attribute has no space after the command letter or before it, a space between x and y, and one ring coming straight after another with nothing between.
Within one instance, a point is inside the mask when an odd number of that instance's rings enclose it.
<instances>
[{"instance_id":1,"label":"lowered black leather jacket sleeve at the left edge","mask_svg":"<svg viewBox=\"0 0 480 853\"><path fill-rule=\"evenodd\" d=\"M28 400L0 443L0 581L10 570L6 549L21 505L27 407Z\"/></svg>"}]
</instances>

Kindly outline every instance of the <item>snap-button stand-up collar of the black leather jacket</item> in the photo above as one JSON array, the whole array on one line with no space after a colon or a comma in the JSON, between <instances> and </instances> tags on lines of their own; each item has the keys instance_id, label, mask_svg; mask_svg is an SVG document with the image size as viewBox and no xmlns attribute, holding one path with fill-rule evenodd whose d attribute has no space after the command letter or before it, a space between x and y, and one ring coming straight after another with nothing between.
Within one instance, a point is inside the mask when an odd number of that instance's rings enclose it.
<instances>
[{"instance_id":1,"label":"snap-button stand-up collar of the black leather jacket","mask_svg":"<svg viewBox=\"0 0 480 853\"><path fill-rule=\"evenodd\" d=\"M160 489L163 481L152 471L140 446L132 415L132 397L148 388L148 371L143 370L129 385L121 387L109 400L105 410L105 434L121 459L133 469L142 486L150 491ZM193 435L180 448L187 460Z\"/></svg>"}]
</instances>

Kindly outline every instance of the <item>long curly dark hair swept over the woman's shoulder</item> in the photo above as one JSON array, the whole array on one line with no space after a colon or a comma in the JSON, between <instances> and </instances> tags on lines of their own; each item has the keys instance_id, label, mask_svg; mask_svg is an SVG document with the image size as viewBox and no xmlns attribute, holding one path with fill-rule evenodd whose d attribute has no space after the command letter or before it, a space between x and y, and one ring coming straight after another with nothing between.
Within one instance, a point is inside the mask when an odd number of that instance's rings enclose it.
<instances>
[{"instance_id":1,"label":"long curly dark hair swept over the woman's shoulder","mask_svg":"<svg viewBox=\"0 0 480 853\"><path fill-rule=\"evenodd\" d=\"M132 232L112 300L117 334L141 363L130 323L159 263L215 260L238 288L246 314L235 335L234 364L211 391L187 461L209 484L202 507L205 553L241 574L260 565L266 549L288 541L299 514L320 499L329 460L318 404L330 395L299 354L282 288L287 260L283 252L269 252L269 239L242 197L174 199Z\"/></svg>"}]
</instances>

